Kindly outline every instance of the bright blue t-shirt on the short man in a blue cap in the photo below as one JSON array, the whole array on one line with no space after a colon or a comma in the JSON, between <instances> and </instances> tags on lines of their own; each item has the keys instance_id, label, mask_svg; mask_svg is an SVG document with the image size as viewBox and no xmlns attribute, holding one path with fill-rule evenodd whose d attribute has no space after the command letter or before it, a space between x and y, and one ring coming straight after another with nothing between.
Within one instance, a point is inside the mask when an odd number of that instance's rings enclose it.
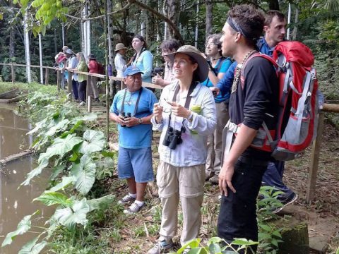
<instances>
[{"instance_id":1,"label":"bright blue t-shirt on the short man in a blue cap","mask_svg":"<svg viewBox=\"0 0 339 254\"><path fill-rule=\"evenodd\" d=\"M110 112L119 115L121 113L122 100L124 99L125 90L120 90L114 96ZM139 91L129 92L127 90L125 97L124 112L125 115L131 113L133 116ZM154 93L143 88L138 103L135 117L141 118L153 114L153 105L157 102ZM152 143L152 124L139 124L133 127L121 127L119 130L119 146L130 149L147 148Z\"/></svg>"}]
</instances>

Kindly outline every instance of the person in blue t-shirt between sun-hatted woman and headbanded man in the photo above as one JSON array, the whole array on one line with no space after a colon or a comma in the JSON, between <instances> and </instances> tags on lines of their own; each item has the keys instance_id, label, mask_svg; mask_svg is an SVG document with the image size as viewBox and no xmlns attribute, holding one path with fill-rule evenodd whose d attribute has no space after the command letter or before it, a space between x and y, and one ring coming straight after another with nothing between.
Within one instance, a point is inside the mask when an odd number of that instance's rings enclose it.
<instances>
[{"instance_id":1,"label":"person in blue t-shirt between sun-hatted woman and headbanded man","mask_svg":"<svg viewBox=\"0 0 339 254\"><path fill-rule=\"evenodd\" d=\"M230 57L223 57L221 54L221 35L209 35L206 40L205 53L208 56L210 71L208 78L201 83L207 87L214 87L224 77L227 69L230 68L232 60ZM215 95L215 108L217 113L217 127L212 135L207 138L207 159L206 159L206 181L218 184L219 171L221 167L222 154L222 130L230 116L228 115L228 100L230 96Z\"/></svg>"}]
</instances>

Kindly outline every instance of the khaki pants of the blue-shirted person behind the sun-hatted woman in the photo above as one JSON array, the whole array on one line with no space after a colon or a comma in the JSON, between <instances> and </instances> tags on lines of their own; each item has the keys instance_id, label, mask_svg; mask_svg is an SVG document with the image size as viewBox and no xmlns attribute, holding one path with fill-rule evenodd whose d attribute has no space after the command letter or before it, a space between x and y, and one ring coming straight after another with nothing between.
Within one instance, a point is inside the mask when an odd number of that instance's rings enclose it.
<instances>
[{"instance_id":1,"label":"khaki pants of the blue-shirted person behind the sun-hatted woman","mask_svg":"<svg viewBox=\"0 0 339 254\"><path fill-rule=\"evenodd\" d=\"M222 130L230 119L228 104L225 102L215 103L215 108L217 127L214 133L207 138L206 175L208 176L219 175L222 160Z\"/></svg>"}]
</instances>

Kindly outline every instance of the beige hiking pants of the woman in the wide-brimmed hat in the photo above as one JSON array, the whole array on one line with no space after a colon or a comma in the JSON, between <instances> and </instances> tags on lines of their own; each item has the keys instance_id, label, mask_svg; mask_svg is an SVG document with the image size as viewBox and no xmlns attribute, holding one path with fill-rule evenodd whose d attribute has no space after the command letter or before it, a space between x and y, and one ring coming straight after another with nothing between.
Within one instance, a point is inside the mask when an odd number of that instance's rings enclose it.
<instances>
[{"instance_id":1,"label":"beige hiking pants of the woman in the wide-brimmed hat","mask_svg":"<svg viewBox=\"0 0 339 254\"><path fill-rule=\"evenodd\" d=\"M157 169L157 186L162 204L160 241L169 241L177 234L179 198L184 217L180 242L184 245L198 237L204 182L204 164L174 167L160 162Z\"/></svg>"}]
</instances>

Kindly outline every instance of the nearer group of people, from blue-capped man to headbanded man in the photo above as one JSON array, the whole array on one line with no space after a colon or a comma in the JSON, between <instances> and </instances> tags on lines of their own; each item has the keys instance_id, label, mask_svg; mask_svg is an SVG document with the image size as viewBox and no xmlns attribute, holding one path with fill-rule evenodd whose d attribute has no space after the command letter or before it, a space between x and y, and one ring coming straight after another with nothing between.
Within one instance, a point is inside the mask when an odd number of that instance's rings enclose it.
<instances>
[{"instance_id":1,"label":"nearer group of people, from blue-capped man to headbanded man","mask_svg":"<svg viewBox=\"0 0 339 254\"><path fill-rule=\"evenodd\" d=\"M154 179L152 131L161 131L156 181L162 220L160 238L149 254L172 248L179 201L181 244L198 237L206 181L219 185L218 236L227 243L234 238L258 240L256 199L262 184L283 191L279 199L284 205L296 200L297 195L283 183L283 162L251 147L266 116L271 118L268 129L274 128L279 108L274 66L268 59L251 56L258 51L271 56L285 40L286 25L278 11L264 16L253 6L234 6L222 35L207 38L206 54L191 45L179 47L176 40L162 42L164 78L150 77L153 57L142 37L133 38L136 54L129 63L120 62L126 89L115 95L109 118L118 123L119 178L129 185L129 193L119 200L129 204L126 214L145 205L145 188ZM117 49L123 56L124 45L117 44ZM142 87L149 80L164 86L159 101ZM231 127L235 138L233 133L229 137Z\"/></svg>"}]
</instances>

